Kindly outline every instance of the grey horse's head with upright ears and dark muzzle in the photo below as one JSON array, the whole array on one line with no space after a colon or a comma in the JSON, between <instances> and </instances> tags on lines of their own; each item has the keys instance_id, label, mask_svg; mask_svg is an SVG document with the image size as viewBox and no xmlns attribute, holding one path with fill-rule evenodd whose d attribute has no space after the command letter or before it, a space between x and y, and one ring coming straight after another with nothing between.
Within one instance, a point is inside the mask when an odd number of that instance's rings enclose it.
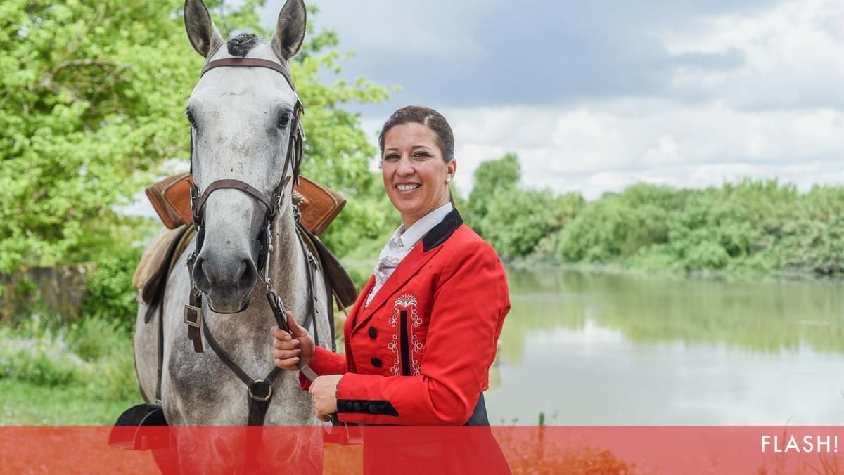
<instances>
[{"instance_id":1,"label":"grey horse's head with upright ears and dark muzzle","mask_svg":"<svg viewBox=\"0 0 844 475\"><path fill-rule=\"evenodd\" d=\"M279 13L273 39L267 44L253 35L226 42L214 26L202 0L185 2L185 28L193 49L207 62L230 57L260 58L287 70L305 38L306 10L302 0L287 0ZM273 197L284 169L291 127L295 127L294 90L282 74L266 67L216 67L203 74L187 101L192 126L192 170L203 193L219 180L238 180L264 197ZM289 184L287 184L289 188ZM281 210L288 210L284 192ZM273 203L275 206L275 203ZM257 282L259 235L267 208L236 189L208 195L202 208L204 238L191 269L197 287L216 311L246 308Z\"/></svg>"}]
</instances>

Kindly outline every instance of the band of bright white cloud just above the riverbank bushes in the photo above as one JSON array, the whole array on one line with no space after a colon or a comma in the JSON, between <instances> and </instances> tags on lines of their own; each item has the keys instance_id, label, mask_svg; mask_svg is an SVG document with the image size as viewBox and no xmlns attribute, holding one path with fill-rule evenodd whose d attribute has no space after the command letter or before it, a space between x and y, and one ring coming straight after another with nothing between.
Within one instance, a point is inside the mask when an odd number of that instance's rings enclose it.
<instances>
[{"instance_id":1,"label":"band of bright white cloud just above the riverbank bushes","mask_svg":"<svg viewBox=\"0 0 844 475\"><path fill-rule=\"evenodd\" d=\"M590 198L637 181L699 187L779 177L801 189L844 182L844 112L832 109L738 111L721 103L612 100L456 109L446 116L457 138L462 190L471 188L480 161L505 152L519 154L527 185Z\"/></svg>"}]
</instances>

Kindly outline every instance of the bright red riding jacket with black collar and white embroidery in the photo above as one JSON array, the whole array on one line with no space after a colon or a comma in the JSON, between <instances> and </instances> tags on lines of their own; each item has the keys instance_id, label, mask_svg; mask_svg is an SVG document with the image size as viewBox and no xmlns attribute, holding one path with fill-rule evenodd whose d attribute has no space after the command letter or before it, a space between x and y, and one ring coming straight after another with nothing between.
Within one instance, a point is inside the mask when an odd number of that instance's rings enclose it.
<instances>
[{"instance_id":1,"label":"bright red riding jacket with black collar and white embroidery","mask_svg":"<svg viewBox=\"0 0 844 475\"><path fill-rule=\"evenodd\" d=\"M466 424L489 386L504 317L506 274L457 209L414 246L364 308L370 278L344 325L345 355L317 347L317 375L344 374L341 422ZM302 389L310 384L300 375Z\"/></svg>"}]
</instances>

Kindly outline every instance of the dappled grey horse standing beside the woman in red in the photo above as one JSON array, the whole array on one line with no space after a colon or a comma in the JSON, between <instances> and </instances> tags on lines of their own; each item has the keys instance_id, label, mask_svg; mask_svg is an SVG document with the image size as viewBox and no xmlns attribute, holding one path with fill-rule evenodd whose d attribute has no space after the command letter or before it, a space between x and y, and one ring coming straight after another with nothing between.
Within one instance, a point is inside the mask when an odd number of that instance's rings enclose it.
<instances>
[{"instance_id":1,"label":"dappled grey horse standing beside the woman in red","mask_svg":"<svg viewBox=\"0 0 844 475\"><path fill-rule=\"evenodd\" d=\"M185 26L193 48L206 62L232 57L227 42L214 26L202 0L185 2ZM287 0L279 13L272 40L258 40L246 53L285 64L299 51L306 31L306 8L302 0ZM197 71L197 77L199 71ZM162 87L167 87L162 84ZM192 122L193 176L199 192L221 179L245 181L266 196L282 177L288 133L284 116L292 113L295 93L282 76L262 67L218 67L206 73L187 101L186 114ZM289 126L287 126L289 127ZM291 171L287 171L290 175ZM289 184L288 187L291 187ZM306 315L308 271L306 258L295 231L291 194L284 192L279 213L273 221L274 250L269 277L287 309L302 323ZM265 297L262 276L257 275L258 239L265 208L254 198L234 189L214 192L204 208L205 237L197 263L189 269L188 252L182 254L170 274L164 305L164 365L161 401L170 425L244 425L247 420L246 386L225 366L203 341L205 352L197 354L182 322L192 278L202 289L203 318L222 348L246 373L258 379L273 368L270 327L275 319ZM148 249L149 251L149 249ZM190 274L192 273L192 275ZM314 279L317 313L314 325L320 335L330 335L327 297L321 275ZM248 308L234 312L243 302ZM157 384L159 313L144 322L147 305L138 308L135 324L135 361L138 385L146 399L154 399ZM327 337L322 346L329 347ZM300 391L295 373L284 371L273 386L273 398L266 425L318 425L309 394ZM236 430L234 430L236 432ZM212 438L214 439L214 438ZM298 440L298 441L297 441ZM321 469L321 447L312 440L294 438L275 445L276 457L290 452L311 453L314 470ZM192 444L208 444L183 451L179 465L197 472L231 472L238 454L226 448L225 440L197 437ZM270 444L272 445L272 444ZM199 450L195 450L199 449ZM203 450L204 449L204 450ZM319 466L319 467L317 467ZM300 467L306 472L308 467Z\"/></svg>"}]
</instances>

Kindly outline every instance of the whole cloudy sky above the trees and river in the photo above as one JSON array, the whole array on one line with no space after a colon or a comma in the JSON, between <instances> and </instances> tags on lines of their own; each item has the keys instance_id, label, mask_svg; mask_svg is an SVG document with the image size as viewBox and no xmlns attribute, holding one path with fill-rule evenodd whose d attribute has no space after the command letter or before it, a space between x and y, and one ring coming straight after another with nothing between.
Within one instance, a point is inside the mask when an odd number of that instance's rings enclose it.
<instances>
[{"instance_id":1,"label":"whole cloudy sky above the trees and river","mask_svg":"<svg viewBox=\"0 0 844 475\"><path fill-rule=\"evenodd\" d=\"M262 23L283 3L268 0ZM436 108L462 192L481 161L508 152L526 186L587 198L637 181L844 183L841 0L317 6L309 21L355 53L341 78L402 88L349 106L373 142L399 107Z\"/></svg>"}]
</instances>

